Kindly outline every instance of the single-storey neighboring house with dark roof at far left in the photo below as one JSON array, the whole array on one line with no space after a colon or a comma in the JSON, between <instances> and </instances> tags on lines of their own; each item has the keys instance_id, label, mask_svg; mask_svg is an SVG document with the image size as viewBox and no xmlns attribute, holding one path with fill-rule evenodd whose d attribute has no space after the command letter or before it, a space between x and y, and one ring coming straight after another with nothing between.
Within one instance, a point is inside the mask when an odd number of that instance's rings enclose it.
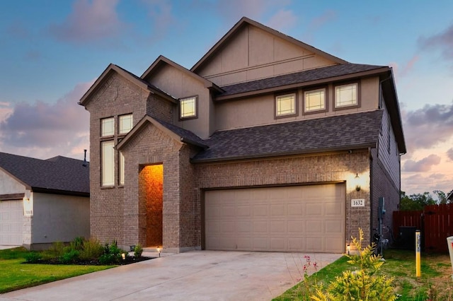
<instances>
[{"instance_id":1,"label":"single-storey neighboring house with dark roof at far left","mask_svg":"<svg viewBox=\"0 0 453 301\"><path fill-rule=\"evenodd\" d=\"M42 249L90 236L89 166L0 153L0 245Z\"/></svg>"}]
</instances>

